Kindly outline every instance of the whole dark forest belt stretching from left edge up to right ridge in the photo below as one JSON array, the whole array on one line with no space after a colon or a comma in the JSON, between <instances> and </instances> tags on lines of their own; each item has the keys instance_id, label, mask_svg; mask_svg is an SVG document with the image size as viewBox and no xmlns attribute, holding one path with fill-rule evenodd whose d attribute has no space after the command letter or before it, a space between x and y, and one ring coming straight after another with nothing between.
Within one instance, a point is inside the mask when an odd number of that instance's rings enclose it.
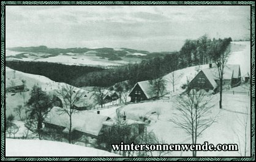
<instances>
[{"instance_id":1,"label":"whole dark forest belt stretching from left edge up to right ridge","mask_svg":"<svg viewBox=\"0 0 256 162\"><path fill-rule=\"evenodd\" d=\"M128 80L133 86L138 81L156 79L174 70L194 65L208 64L223 53L232 41L209 39L203 35L196 40L186 40L179 52L145 59L139 64L103 69L99 67L64 65L50 62L6 61L6 66L25 73L47 76L53 81L84 86L111 86Z\"/></svg>"}]
</instances>

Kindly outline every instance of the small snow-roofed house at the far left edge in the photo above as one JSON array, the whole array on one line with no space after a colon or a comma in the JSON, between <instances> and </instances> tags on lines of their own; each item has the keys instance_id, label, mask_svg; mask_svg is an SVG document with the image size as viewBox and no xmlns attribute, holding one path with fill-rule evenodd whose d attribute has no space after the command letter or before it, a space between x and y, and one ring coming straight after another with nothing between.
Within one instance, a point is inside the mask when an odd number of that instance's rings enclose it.
<instances>
[{"instance_id":1,"label":"small snow-roofed house at the far left edge","mask_svg":"<svg viewBox=\"0 0 256 162\"><path fill-rule=\"evenodd\" d=\"M24 90L24 84L20 79L7 79L6 92L19 92Z\"/></svg>"}]
</instances>

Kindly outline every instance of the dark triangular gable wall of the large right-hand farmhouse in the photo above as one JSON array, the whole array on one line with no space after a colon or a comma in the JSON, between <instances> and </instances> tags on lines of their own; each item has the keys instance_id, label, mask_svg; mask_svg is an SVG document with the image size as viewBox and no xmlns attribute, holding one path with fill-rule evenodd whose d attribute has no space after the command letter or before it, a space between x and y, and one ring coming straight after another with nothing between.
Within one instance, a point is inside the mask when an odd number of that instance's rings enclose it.
<instances>
[{"instance_id":1,"label":"dark triangular gable wall of the large right-hand farmhouse","mask_svg":"<svg viewBox=\"0 0 256 162\"><path fill-rule=\"evenodd\" d=\"M200 78L203 78L200 79ZM200 81L201 80L201 81ZM204 83L202 83L204 81ZM209 82L208 78L205 76L205 74L200 71L197 76L189 83L189 89L199 88L199 89L211 89L213 90L213 86Z\"/></svg>"}]
</instances>

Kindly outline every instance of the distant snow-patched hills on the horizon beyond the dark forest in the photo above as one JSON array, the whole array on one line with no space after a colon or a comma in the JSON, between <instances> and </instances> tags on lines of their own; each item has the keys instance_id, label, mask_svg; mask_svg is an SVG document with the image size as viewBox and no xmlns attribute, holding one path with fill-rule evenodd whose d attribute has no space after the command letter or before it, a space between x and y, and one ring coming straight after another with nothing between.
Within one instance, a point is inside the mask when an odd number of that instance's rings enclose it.
<instances>
[{"instance_id":1,"label":"distant snow-patched hills on the horizon beyond the dark forest","mask_svg":"<svg viewBox=\"0 0 256 162\"><path fill-rule=\"evenodd\" d=\"M109 66L141 62L143 59L165 56L170 53L150 53L149 51L130 48L48 48L47 46L19 46L7 48L6 58L8 60L47 61L72 65ZM51 59L47 59L49 57L51 57ZM72 61L72 59L76 60Z\"/></svg>"}]
</instances>

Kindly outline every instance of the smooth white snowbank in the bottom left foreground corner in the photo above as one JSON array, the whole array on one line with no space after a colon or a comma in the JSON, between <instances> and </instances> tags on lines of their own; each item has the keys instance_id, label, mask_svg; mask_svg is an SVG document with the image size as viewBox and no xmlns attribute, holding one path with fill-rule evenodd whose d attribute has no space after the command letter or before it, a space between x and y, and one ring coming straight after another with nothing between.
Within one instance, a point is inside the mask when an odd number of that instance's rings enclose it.
<instances>
[{"instance_id":1,"label":"smooth white snowbank in the bottom left foreground corner","mask_svg":"<svg viewBox=\"0 0 256 162\"><path fill-rule=\"evenodd\" d=\"M65 142L6 139L6 156L120 156L91 147Z\"/></svg>"}]
</instances>

